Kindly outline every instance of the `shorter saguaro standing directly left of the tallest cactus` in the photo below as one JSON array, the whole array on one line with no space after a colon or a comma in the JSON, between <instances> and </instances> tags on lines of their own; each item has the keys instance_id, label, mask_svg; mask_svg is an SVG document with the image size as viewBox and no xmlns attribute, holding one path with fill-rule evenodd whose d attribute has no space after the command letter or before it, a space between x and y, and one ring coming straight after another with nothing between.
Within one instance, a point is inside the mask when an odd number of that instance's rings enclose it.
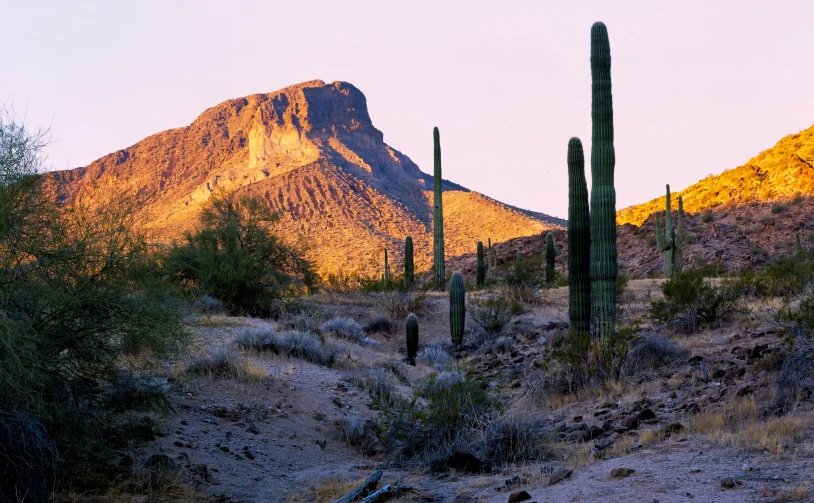
<instances>
[{"instance_id":1,"label":"shorter saguaro standing directly left of the tallest cactus","mask_svg":"<svg viewBox=\"0 0 814 503\"><path fill-rule=\"evenodd\" d=\"M591 216L579 138L568 141L568 315L571 330L591 332Z\"/></svg>"}]
</instances>

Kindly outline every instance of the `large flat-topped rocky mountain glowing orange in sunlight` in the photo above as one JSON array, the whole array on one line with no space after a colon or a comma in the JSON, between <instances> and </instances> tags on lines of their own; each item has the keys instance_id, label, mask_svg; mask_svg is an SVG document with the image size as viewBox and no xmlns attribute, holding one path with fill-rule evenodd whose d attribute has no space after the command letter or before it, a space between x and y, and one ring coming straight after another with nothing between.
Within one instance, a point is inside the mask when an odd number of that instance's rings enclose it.
<instances>
[{"instance_id":1,"label":"large flat-topped rocky mountain glowing orange in sunlight","mask_svg":"<svg viewBox=\"0 0 814 503\"><path fill-rule=\"evenodd\" d=\"M384 143L365 96L346 82L315 80L228 100L189 126L50 176L66 203L91 185L131 188L137 211L163 241L194 229L202 205L223 188L268 201L281 217L277 231L308 246L323 274L377 272L383 247L398 264L407 235L416 267L432 262L432 177ZM474 250L479 239L564 225L450 181L444 213L449 256Z\"/></svg>"}]
</instances>

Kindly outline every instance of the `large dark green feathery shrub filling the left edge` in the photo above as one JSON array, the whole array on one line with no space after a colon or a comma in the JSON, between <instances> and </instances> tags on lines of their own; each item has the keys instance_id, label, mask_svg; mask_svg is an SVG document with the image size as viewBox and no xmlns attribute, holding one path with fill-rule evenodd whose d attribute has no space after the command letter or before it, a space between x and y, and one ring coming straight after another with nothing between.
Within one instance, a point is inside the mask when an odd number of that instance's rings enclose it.
<instances>
[{"instance_id":1,"label":"large dark green feathery shrub filling the left edge","mask_svg":"<svg viewBox=\"0 0 814 503\"><path fill-rule=\"evenodd\" d=\"M125 429L106 389L124 363L187 338L135 230L135 201L87 185L57 206L40 176L45 143L0 110L0 495L31 501L107 461L105 439Z\"/></svg>"}]
</instances>

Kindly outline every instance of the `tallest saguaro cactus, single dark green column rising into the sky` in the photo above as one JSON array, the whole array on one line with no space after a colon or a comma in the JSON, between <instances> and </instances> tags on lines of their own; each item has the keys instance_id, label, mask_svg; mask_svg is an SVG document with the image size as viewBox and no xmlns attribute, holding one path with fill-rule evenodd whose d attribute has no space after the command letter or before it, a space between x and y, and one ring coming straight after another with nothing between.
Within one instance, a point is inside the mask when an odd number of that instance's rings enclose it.
<instances>
[{"instance_id":1,"label":"tallest saguaro cactus, single dark green column rising into the sky","mask_svg":"<svg viewBox=\"0 0 814 503\"><path fill-rule=\"evenodd\" d=\"M591 27L591 309L594 337L607 340L616 325L616 189L613 171L613 97L608 29Z\"/></svg>"}]
</instances>

